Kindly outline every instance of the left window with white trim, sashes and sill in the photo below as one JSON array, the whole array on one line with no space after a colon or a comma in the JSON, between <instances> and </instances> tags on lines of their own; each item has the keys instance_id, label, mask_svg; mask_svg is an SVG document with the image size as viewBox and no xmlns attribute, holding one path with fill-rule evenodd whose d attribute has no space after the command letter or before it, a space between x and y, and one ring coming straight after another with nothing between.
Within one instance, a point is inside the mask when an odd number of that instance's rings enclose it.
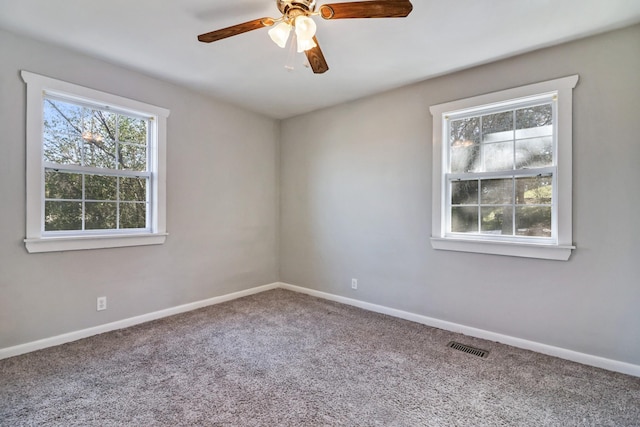
<instances>
[{"instance_id":1,"label":"left window with white trim, sashes and sill","mask_svg":"<svg viewBox=\"0 0 640 427\"><path fill-rule=\"evenodd\" d=\"M22 78L27 250L163 243L169 111L27 71Z\"/></svg>"}]
</instances>

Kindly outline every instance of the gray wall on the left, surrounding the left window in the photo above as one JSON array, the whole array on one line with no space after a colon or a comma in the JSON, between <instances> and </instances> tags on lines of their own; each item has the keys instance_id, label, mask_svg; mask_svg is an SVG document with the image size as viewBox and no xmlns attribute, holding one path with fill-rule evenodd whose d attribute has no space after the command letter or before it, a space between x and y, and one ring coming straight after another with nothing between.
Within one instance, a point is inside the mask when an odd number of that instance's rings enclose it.
<instances>
[{"instance_id":1,"label":"gray wall on the left, surrounding the left window","mask_svg":"<svg viewBox=\"0 0 640 427\"><path fill-rule=\"evenodd\" d=\"M277 281L278 122L6 32L0 58L0 348ZM21 69L171 110L164 245L26 252Z\"/></svg>"}]
</instances>

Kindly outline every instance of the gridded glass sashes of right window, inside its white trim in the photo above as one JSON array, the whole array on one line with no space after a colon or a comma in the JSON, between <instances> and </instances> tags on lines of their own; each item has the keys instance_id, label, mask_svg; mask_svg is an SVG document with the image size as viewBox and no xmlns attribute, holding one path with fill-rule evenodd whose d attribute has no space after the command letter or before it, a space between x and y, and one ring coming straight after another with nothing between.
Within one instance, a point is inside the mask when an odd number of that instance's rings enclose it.
<instances>
[{"instance_id":1,"label":"gridded glass sashes of right window, inside its white trim","mask_svg":"<svg viewBox=\"0 0 640 427\"><path fill-rule=\"evenodd\" d=\"M555 98L552 93L443 118L447 235L557 241Z\"/></svg>"}]
</instances>

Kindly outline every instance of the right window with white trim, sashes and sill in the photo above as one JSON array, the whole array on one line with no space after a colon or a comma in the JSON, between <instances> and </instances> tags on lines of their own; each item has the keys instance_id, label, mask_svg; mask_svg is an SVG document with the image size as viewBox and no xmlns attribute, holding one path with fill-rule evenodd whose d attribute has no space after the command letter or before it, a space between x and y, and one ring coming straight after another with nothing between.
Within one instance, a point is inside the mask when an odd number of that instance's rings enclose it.
<instances>
[{"instance_id":1,"label":"right window with white trim, sashes and sill","mask_svg":"<svg viewBox=\"0 0 640 427\"><path fill-rule=\"evenodd\" d=\"M431 107L435 249L567 260L578 76Z\"/></svg>"}]
</instances>

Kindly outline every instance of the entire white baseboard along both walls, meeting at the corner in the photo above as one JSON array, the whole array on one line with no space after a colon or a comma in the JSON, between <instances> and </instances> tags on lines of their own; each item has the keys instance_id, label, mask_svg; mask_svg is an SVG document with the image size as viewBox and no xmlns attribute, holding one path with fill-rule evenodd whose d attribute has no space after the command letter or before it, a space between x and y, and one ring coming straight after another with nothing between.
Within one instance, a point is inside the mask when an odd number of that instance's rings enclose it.
<instances>
[{"instance_id":1,"label":"entire white baseboard along both walls, meeting at the corner","mask_svg":"<svg viewBox=\"0 0 640 427\"><path fill-rule=\"evenodd\" d=\"M435 319L433 317L427 317L420 314L410 313L407 311L397 310L394 308L385 307L383 305L372 304L353 298L342 297L339 295L330 294L327 292L316 291L313 289L303 288L300 286L291 285L289 283L275 282L264 286L258 286L244 291L233 292L231 294L222 295L218 297L209 298L206 300L196 301L189 304L179 305L177 307L171 307L160 311L154 311L153 313L147 313L140 316L131 317L128 319L118 320L112 323L106 323L104 325L94 326L92 328L82 329L75 332L69 332L62 335L57 335L50 338L44 338L38 341L32 341L25 344L16 345L13 347L7 347L0 349L0 360L8 357L19 356L21 354L29 353L36 350L41 350L47 347L53 347L60 344L65 344L71 341L77 341L82 338L87 338L93 335L102 334L105 332L113 331L116 329L122 329L129 326L138 325L140 323L149 322L151 320L160 319L167 316L173 316L174 314L185 313L187 311L195 310L202 307L207 307L214 304L220 304L222 302L231 301L237 298L242 298L248 295L257 294L260 292L268 291L271 289L287 289L294 292L299 292L307 295L311 295L318 298L323 298L330 301L339 302L342 304L352 305L365 310L374 311L376 313L387 314L389 316L398 317L400 319L410 320L412 322L421 323L423 325L432 326L434 328L444 329L451 332L457 332L464 335L469 335L476 338L482 338L490 341L500 342L502 344L511 345L525 350L531 350L549 356L559 357L561 359L571 360L573 362L582 363L584 365L595 366L597 368L607 369L610 371L621 372L627 375L633 375L640 377L640 365L634 365L631 363L620 362L617 360L607 359L604 357L593 356L590 354L580 353L573 350L564 349L561 347L554 347L547 344L538 343L535 341L529 341L522 338L512 337L509 335L503 335L483 329L473 328L471 326L460 325L458 323L448 322L445 320Z\"/></svg>"}]
</instances>

